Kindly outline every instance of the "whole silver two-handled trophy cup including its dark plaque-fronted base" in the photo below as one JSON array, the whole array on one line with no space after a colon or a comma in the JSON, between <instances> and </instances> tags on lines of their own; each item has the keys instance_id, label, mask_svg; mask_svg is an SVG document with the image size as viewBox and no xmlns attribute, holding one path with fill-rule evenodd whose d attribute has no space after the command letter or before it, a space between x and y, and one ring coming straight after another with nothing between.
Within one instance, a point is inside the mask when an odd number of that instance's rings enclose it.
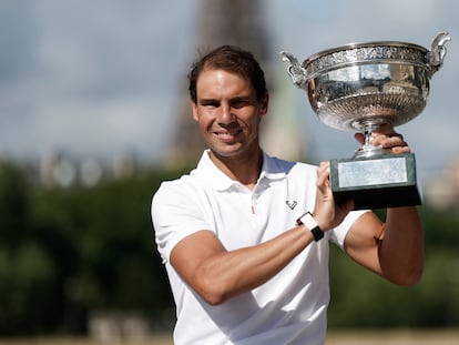
<instances>
[{"instance_id":1,"label":"whole silver two-handled trophy cup including its dark plaque-fronted base","mask_svg":"<svg viewBox=\"0 0 459 345\"><path fill-rule=\"evenodd\" d=\"M397 41L351 43L302 64L280 52L322 122L365 135L351 159L330 161L337 203L354 199L356 210L421 204L415 154L390 154L371 144L371 133L407 123L425 109L430 78L441 68L449 40L447 32L439 33L430 50Z\"/></svg>"}]
</instances>

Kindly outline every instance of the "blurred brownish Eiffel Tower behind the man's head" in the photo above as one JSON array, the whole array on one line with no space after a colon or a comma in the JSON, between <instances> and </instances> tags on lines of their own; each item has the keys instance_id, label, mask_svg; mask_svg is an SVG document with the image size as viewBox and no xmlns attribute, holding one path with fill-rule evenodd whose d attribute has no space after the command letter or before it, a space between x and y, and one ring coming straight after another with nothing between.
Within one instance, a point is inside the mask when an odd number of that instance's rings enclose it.
<instances>
[{"instance_id":1,"label":"blurred brownish Eiffel Tower behind the man's head","mask_svg":"<svg viewBox=\"0 0 459 345\"><path fill-rule=\"evenodd\" d=\"M268 34L266 32L264 10L265 6L259 0L201 0L198 13L202 13L202 17L200 19L196 50L198 52L206 52L222 44L234 44L249 50L265 71L267 88L271 100L273 100L275 90L271 82L274 78L271 72L267 44ZM286 77L285 80L287 80ZM288 85L288 88L293 89L292 85ZM166 153L166 163L173 168L195 165L205 149L196 122L193 120L188 95L185 90L184 95L175 125L175 133L173 133L172 142ZM287 112L292 110L292 105L288 108ZM282 109L282 112L286 112L286 109ZM282 120L272 121L269 119L267 121L267 125L264 126L266 129L264 131L265 135L262 133L262 143L265 141L263 146L265 149L271 146L274 151L276 151L275 148L280 146L288 149L284 145L285 140L282 138L283 135L278 135L280 132L284 132L284 136L290 139L289 142L294 146L292 150L296 153L287 154L286 156L286 152L283 152L284 154L282 155L287 159L296 159L300 151L300 141L295 142L292 140L290 134L285 134L285 125L279 128L279 121ZM288 126L296 128L295 124ZM271 139L263 140L263 136L269 136ZM292 150L288 149L288 151ZM269 150L268 153L273 154ZM276 153L274 152L274 154Z\"/></svg>"}]
</instances>

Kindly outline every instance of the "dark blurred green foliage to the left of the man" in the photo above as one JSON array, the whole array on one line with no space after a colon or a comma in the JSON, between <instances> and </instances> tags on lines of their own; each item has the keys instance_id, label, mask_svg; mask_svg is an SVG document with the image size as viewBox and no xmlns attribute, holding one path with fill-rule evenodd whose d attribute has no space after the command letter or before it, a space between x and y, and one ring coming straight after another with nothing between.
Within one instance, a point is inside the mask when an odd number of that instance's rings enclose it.
<instances>
[{"instance_id":1,"label":"dark blurred green foliage to the left of the man","mask_svg":"<svg viewBox=\"0 0 459 345\"><path fill-rule=\"evenodd\" d=\"M170 308L150 203L171 175L45 189L0 163L0 334L81 333L92 311Z\"/></svg>"}]
</instances>

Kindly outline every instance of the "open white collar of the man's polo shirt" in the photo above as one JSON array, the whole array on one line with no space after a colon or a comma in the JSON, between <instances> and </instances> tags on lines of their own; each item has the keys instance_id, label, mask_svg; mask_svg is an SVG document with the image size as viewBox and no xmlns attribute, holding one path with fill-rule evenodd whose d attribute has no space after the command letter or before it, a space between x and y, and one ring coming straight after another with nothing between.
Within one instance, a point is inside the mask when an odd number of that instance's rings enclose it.
<instances>
[{"instance_id":1,"label":"open white collar of the man's polo shirt","mask_svg":"<svg viewBox=\"0 0 459 345\"><path fill-rule=\"evenodd\" d=\"M208 183L214 190L225 191L232 186L239 184L237 181L230 179L225 175L215 164L210 156L210 150L205 150L197 163L195 174L203 181ZM258 177L258 183L263 179L267 180L280 180L286 176L286 173L276 159L273 159L263 151L263 166L262 173Z\"/></svg>"}]
</instances>

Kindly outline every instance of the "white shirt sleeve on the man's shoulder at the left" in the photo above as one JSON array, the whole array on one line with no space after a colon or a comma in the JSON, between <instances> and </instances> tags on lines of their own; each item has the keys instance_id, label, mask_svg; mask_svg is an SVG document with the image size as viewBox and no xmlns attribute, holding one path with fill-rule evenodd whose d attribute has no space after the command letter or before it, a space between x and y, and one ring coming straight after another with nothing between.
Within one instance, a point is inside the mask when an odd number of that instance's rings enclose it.
<instances>
[{"instance_id":1,"label":"white shirt sleeve on the man's shoulder at the left","mask_svg":"<svg viewBox=\"0 0 459 345\"><path fill-rule=\"evenodd\" d=\"M180 241L197 231L211 230L196 192L180 181L161 184L152 200L151 215L163 263L169 262Z\"/></svg>"}]
</instances>

